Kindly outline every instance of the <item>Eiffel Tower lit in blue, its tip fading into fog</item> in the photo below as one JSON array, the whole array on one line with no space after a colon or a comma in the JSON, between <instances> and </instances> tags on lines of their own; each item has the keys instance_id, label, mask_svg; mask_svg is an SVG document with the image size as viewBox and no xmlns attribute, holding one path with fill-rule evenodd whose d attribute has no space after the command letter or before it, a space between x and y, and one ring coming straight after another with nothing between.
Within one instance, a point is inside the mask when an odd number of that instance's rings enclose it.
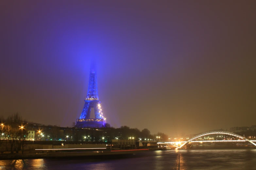
<instances>
[{"instance_id":1,"label":"Eiffel Tower lit in blue, its tip fading into fog","mask_svg":"<svg viewBox=\"0 0 256 170\"><path fill-rule=\"evenodd\" d=\"M91 64L88 91L84 101L85 101L85 104L84 104L80 118L77 119L76 127L99 128L104 126L106 123L106 118L103 117L99 96L98 96L98 85L97 85L95 62L92 62ZM94 109L95 118L90 118L92 108Z\"/></svg>"}]
</instances>

